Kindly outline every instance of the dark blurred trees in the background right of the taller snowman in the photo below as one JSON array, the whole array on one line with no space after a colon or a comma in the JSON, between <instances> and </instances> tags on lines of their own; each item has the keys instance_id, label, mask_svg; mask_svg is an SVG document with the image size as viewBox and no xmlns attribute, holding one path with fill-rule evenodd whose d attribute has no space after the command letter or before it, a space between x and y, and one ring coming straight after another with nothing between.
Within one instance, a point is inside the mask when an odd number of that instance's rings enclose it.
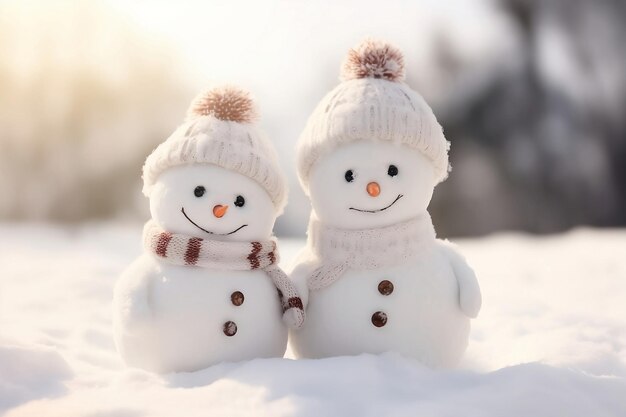
<instances>
[{"instance_id":1,"label":"dark blurred trees in the background right of the taller snowman","mask_svg":"<svg viewBox=\"0 0 626 417\"><path fill-rule=\"evenodd\" d=\"M443 112L454 171L433 202L442 234L626 225L626 3L501 6L517 47Z\"/></svg>"}]
</instances>

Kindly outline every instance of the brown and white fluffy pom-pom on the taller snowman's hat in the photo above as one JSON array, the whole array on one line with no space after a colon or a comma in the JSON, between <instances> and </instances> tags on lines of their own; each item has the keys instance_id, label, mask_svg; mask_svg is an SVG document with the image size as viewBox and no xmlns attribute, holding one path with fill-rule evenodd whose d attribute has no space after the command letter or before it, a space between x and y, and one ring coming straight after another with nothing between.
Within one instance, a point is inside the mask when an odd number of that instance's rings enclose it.
<instances>
[{"instance_id":1,"label":"brown and white fluffy pom-pom on the taller snowman's hat","mask_svg":"<svg viewBox=\"0 0 626 417\"><path fill-rule=\"evenodd\" d=\"M341 68L343 81L358 78L404 80L404 56L398 48L386 42L367 39L348 52Z\"/></svg>"}]
</instances>

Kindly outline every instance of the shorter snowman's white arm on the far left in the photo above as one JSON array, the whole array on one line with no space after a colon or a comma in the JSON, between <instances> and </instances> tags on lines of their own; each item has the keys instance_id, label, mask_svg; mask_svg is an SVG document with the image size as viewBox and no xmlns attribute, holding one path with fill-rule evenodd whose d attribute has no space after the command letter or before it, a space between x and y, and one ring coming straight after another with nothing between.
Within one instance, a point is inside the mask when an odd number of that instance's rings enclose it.
<instances>
[{"instance_id":1,"label":"shorter snowman's white arm on the far left","mask_svg":"<svg viewBox=\"0 0 626 417\"><path fill-rule=\"evenodd\" d=\"M130 264L115 284L113 314L124 328L136 328L152 319L150 282L155 265L146 255Z\"/></svg>"}]
</instances>

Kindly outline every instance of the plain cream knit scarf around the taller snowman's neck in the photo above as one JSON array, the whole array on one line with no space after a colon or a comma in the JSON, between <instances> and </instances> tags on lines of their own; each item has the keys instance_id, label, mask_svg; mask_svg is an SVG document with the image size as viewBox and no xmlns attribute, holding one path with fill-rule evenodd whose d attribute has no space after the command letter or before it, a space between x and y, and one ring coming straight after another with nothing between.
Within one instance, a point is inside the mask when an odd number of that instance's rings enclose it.
<instances>
[{"instance_id":1,"label":"plain cream knit scarf around the taller snowman's neck","mask_svg":"<svg viewBox=\"0 0 626 417\"><path fill-rule=\"evenodd\" d=\"M311 216L308 247L320 266L308 278L309 289L329 286L347 269L377 269L402 263L434 239L435 228L427 212L402 223L364 230L333 228Z\"/></svg>"}]
</instances>

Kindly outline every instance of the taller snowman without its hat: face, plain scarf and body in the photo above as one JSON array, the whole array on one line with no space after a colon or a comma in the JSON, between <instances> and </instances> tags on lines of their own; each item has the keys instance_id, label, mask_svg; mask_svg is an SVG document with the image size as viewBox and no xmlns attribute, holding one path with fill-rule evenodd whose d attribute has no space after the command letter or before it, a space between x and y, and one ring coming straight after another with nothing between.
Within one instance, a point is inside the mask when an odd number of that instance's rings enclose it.
<instances>
[{"instance_id":1,"label":"taller snowman without its hat: face, plain scarf and body","mask_svg":"<svg viewBox=\"0 0 626 417\"><path fill-rule=\"evenodd\" d=\"M295 355L394 351L458 364L481 296L463 257L435 237L431 164L406 146L361 140L320 157L309 184L309 244L291 272L307 307L303 328L290 331Z\"/></svg>"}]
</instances>

